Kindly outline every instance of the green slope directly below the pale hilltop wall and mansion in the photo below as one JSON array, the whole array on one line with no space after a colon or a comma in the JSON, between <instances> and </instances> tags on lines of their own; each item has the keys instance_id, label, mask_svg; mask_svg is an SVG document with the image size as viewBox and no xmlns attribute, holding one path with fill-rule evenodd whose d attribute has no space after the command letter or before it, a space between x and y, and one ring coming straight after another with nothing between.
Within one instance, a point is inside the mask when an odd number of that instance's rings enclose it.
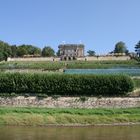
<instances>
[{"instance_id":1,"label":"green slope directly below the pale hilltop wall and mansion","mask_svg":"<svg viewBox=\"0 0 140 140\"><path fill-rule=\"evenodd\" d=\"M43 62L43 61L22 61L22 62L2 62L0 69L103 69L116 67L140 67L135 60L128 61L59 61L59 62Z\"/></svg>"}]
</instances>

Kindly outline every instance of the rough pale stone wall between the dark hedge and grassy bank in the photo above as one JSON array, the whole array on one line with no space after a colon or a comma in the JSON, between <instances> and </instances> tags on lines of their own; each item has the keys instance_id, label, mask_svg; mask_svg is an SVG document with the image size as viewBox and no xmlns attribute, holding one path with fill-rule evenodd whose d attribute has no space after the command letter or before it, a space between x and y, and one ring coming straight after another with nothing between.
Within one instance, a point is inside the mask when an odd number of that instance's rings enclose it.
<instances>
[{"instance_id":1,"label":"rough pale stone wall between the dark hedge and grassy bank","mask_svg":"<svg viewBox=\"0 0 140 140\"><path fill-rule=\"evenodd\" d=\"M86 98L80 97L52 97L39 99L36 97L0 98L0 106L10 107L46 107L46 108L127 108L140 107L140 97L137 98Z\"/></svg>"}]
</instances>

